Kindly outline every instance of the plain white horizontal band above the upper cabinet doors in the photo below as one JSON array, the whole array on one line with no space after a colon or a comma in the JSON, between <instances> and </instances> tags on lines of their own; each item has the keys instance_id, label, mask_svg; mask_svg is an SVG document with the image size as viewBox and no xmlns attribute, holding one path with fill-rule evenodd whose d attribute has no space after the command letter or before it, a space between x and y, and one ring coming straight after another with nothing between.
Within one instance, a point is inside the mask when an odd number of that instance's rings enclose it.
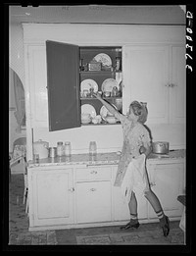
<instances>
[{"instance_id":1,"label":"plain white horizontal band above the upper cabinet doors","mask_svg":"<svg viewBox=\"0 0 196 256\"><path fill-rule=\"evenodd\" d=\"M185 26L23 24L24 42L54 40L78 45L185 43Z\"/></svg>"}]
</instances>

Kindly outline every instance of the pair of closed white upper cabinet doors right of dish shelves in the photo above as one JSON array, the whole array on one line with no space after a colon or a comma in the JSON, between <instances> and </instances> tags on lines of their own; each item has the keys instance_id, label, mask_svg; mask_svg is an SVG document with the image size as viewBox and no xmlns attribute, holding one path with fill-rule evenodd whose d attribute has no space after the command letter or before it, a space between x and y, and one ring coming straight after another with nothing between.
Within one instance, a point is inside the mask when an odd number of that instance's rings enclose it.
<instances>
[{"instance_id":1,"label":"pair of closed white upper cabinet doors right of dish shelves","mask_svg":"<svg viewBox=\"0 0 196 256\"><path fill-rule=\"evenodd\" d=\"M185 47L126 45L124 98L147 102L150 124L183 123L185 118Z\"/></svg>"}]
</instances>

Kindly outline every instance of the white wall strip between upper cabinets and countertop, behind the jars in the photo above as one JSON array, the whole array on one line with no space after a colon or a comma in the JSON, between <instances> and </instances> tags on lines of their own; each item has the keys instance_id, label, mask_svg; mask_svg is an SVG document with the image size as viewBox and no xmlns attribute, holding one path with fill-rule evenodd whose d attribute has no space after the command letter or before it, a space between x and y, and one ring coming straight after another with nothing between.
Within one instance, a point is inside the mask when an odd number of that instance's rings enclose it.
<instances>
[{"instance_id":1,"label":"white wall strip between upper cabinets and countertop, behind the jars","mask_svg":"<svg viewBox=\"0 0 196 256\"><path fill-rule=\"evenodd\" d=\"M170 149L185 148L185 125L148 125L152 131L153 141L170 141ZM34 128L33 139L49 142L49 146L57 146L58 141L71 141L73 153L88 152L89 142L95 140L98 152L116 152L123 146L123 130L121 125L89 126L67 130L48 131L48 128Z\"/></svg>"}]
</instances>

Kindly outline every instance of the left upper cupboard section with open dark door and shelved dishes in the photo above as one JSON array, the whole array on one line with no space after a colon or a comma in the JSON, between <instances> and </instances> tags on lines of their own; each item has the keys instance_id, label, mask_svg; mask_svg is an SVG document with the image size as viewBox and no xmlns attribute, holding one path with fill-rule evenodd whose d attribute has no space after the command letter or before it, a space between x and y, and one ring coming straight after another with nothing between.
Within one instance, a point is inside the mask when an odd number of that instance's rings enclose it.
<instances>
[{"instance_id":1,"label":"left upper cupboard section with open dark door and shelved dishes","mask_svg":"<svg viewBox=\"0 0 196 256\"><path fill-rule=\"evenodd\" d=\"M79 47L46 40L45 46L28 46L27 56L32 128L53 131L95 125L82 122L82 113L90 114L91 120L100 115L101 125L108 124L110 113L92 95L98 91L123 111L122 47Z\"/></svg>"}]
</instances>

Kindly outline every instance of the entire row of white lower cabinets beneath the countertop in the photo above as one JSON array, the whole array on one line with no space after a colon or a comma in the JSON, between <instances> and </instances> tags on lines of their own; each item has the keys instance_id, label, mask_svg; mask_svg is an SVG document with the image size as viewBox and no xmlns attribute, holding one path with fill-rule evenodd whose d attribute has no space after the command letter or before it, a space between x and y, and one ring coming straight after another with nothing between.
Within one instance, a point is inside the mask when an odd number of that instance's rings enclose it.
<instances>
[{"instance_id":1,"label":"entire row of white lower cabinets beneath the countertop","mask_svg":"<svg viewBox=\"0 0 196 256\"><path fill-rule=\"evenodd\" d=\"M149 161L152 190L173 220L180 220L185 193L184 162ZM29 230L70 229L116 225L128 221L128 203L121 187L114 186L116 165L28 168ZM138 218L142 222L158 218L142 192L135 191Z\"/></svg>"}]
</instances>

